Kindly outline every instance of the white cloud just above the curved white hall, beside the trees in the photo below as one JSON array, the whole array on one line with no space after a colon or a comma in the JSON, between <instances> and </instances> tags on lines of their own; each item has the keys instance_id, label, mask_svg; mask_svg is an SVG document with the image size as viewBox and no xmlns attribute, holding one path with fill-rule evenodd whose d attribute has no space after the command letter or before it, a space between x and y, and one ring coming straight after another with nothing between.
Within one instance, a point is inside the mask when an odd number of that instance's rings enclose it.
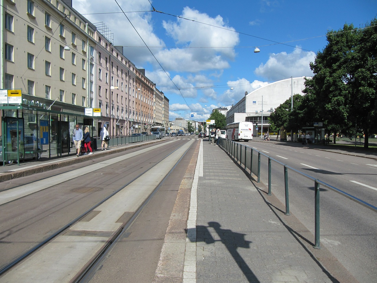
<instances>
[{"instance_id":1,"label":"white cloud just above the curved white hall, beside the trees","mask_svg":"<svg viewBox=\"0 0 377 283\"><path fill-rule=\"evenodd\" d=\"M265 64L255 69L255 74L267 78L267 80L282 80L290 77L311 77L313 72L309 67L314 62L313 52L295 48L292 53L272 53Z\"/></svg>"}]
</instances>

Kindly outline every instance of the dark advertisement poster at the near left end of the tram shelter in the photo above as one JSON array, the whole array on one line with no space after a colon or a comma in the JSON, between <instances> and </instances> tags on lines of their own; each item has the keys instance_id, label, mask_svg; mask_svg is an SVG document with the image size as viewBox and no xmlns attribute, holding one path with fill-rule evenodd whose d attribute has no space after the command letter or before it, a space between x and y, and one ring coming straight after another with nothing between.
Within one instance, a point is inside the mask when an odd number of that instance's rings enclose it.
<instances>
[{"instance_id":1,"label":"dark advertisement poster at the near left end of the tram shelter","mask_svg":"<svg viewBox=\"0 0 377 283\"><path fill-rule=\"evenodd\" d=\"M17 160L17 148L20 158L24 155L24 128L23 118L18 118L18 145L17 145L17 118L6 118L6 160Z\"/></svg>"}]
</instances>

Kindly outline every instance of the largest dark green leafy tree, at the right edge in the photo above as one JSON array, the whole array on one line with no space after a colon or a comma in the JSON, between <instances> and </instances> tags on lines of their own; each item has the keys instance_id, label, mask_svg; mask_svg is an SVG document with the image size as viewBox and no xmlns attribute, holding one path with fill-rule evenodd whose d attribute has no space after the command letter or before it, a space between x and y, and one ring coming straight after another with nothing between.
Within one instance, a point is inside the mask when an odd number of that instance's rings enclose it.
<instances>
[{"instance_id":1,"label":"largest dark green leafy tree, at the right edge","mask_svg":"<svg viewBox=\"0 0 377 283\"><path fill-rule=\"evenodd\" d=\"M362 29L344 25L327 33L328 44L310 63L314 76L305 82L302 114L323 122L328 132L362 128L364 147L377 129L377 20ZM334 135L334 141L335 141Z\"/></svg>"}]
</instances>

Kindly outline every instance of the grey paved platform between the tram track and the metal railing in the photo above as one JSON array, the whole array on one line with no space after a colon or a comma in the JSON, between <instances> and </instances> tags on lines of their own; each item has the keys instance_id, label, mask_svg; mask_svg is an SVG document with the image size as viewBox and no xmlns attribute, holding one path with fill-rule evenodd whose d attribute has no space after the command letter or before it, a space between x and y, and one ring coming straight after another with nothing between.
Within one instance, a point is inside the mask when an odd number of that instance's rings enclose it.
<instances>
[{"instance_id":1,"label":"grey paved platform between the tram track and the metal railing","mask_svg":"<svg viewBox=\"0 0 377 283\"><path fill-rule=\"evenodd\" d=\"M356 282L324 247L313 248L314 235L285 215L284 205L262 184L219 146L202 143L196 281L184 283Z\"/></svg>"}]
</instances>

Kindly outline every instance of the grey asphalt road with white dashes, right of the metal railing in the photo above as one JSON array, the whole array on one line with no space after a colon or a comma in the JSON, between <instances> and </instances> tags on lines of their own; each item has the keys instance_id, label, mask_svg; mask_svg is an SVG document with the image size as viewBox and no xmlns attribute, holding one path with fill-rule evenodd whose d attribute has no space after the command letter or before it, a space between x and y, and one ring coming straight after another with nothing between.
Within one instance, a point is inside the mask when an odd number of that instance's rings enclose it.
<instances>
[{"instance_id":1,"label":"grey asphalt road with white dashes, right of the metal railing","mask_svg":"<svg viewBox=\"0 0 377 283\"><path fill-rule=\"evenodd\" d=\"M348 194L377 206L377 161L333 152L292 146L289 143L249 142L272 158ZM267 186L267 158L262 157L261 181ZM289 205L314 232L314 182L288 171ZM284 171L272 163L273 194L285 203ZM309 239L314 241L314 239ZM337 257L360 281L377 278L377 215L364 206L327 188L320 189L321 245Z\"/></svg>"}]
</instances>

